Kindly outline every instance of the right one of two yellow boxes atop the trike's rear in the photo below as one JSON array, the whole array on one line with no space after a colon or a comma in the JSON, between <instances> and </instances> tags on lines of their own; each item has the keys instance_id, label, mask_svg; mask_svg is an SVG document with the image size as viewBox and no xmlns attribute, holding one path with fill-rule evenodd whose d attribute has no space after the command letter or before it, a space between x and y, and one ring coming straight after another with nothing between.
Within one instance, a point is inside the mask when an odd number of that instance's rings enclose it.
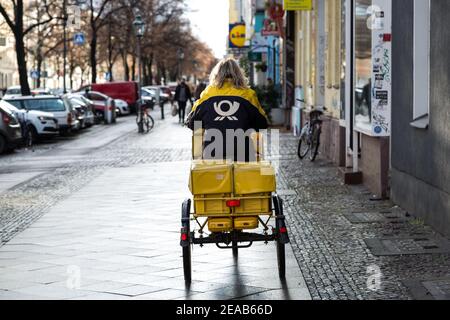
<instances>
[{"instance_id":1,"label":"right one of two yellow boxes atop the trike's rear","mask_svg":"<svg viewBox=\"0 0 450 320\"><path fill-rule=\"evenodd\" d=\"M276 190L275 169L270 162L234 164L234 193L271 193Z\"/></svg>"}]
</instances>

